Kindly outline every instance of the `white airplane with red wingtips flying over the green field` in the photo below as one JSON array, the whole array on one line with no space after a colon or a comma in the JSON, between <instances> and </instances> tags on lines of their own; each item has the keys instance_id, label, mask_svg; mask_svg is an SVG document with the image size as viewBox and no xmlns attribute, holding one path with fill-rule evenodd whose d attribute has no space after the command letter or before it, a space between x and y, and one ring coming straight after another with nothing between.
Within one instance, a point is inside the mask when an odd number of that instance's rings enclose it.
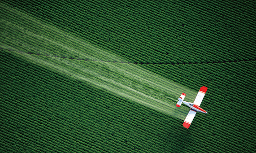
<instances>
[{"instance_id":1,"label":"white airplane with red wingtips flying over the green field","mask_svg":"<svg viewBox=\"0 0 256 153\"><path fill-rule=\"evenodd\" d=\"M184 128L189 128L190 127L190 125L191 125L191 123L192 123L192 121L193 121L193 119L194 119L194 117L196 116L196 113L197 112L202 112L202 113L205 113L205 114L207 114L207 111L205 111L205 110L203 110L203 109L201 109L199 106L200 106L200 104L201 104L201 102L202 102L202 99L203 99L203 97L204 97L204 95L205 95L205 93L206 93L206 91L207 91L207 87L200 87L200 90L199 90L199 92L198 92L198 94L197 94L197 97L196 97L196 99L195 99L195 101L194 101L194 103L189 103L189 102L185 102L184 101L184 98L185 98L185 96L186 96L186 94L183 92L181 95L180 95L180 97L178 98L178 102L177 102L177 104L176 104L176 107L180 107L181 106L181 104L182 103L184 103L184 104L186 104L188 107L190 107L190 110L189 110L189 113L188 113L188 115L187 115L187 117L185 118L185 120L184 120L184 123L183 123L183 127Z\"/></svg>"}]
</instances>

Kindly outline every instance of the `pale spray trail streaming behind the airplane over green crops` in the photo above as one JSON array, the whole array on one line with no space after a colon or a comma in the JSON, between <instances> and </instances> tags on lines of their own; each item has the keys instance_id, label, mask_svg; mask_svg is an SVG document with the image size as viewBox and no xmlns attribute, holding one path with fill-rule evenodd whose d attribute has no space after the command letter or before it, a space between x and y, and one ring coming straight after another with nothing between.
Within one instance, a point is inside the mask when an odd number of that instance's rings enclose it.
<instances>
[{"instance_id":1,"label":"pale spray trail streaming behind the airplane over green crops","mask_svg":"<svg viewBox=\"0 0 256 153\"><path fill-rule=\"evenodd\" d=\"M15 42L22 44L23 48L28 47L29 49L27 50L31 50L35 54L28 54L20 50L20 46L12 47L7 44L0 44L3 49L12 49L11 52L14 51L13 53L17 56L25 57L33 63L48 66L54 71L64 73L75 79L84 80L152 109L159 110L179 119L185 118L188 108L175 108L176 99L182 92L186 92L187 94L189 93L189 96L186 97L187 100L192 101L197 91L174 83L135 64L120 65L119 63L128 62L117 55L92 46L75 36L66 34L55 27L38 22L21 12L12 10L11 8L3 9L8 9L14 15L17 13L22 14L23 21L26 21L26 24L36 24L42 31L45 29L46 32L56 35L53 38L51 37L52 35L49 36L43 32L38 35L34 33L34 29L25 27L23 24L17 24L15 21L8 22L1 20L1 22L8 23L10 26L9 31L18 31L16 34L10 35L8 30L3 30L5 36L9 38L7 40L15 40ZM91 60L93 63L91 64L91 61L90 63L86 61L81 63L68 58L58 58L56 55L48 52L47 49L36 48L35 46L37 44L31 42L31 39L34 42L42 42L45 46L60 48L63 53L72 52L78 54L79 57ZM30 40L29 43L27 40ZM44 56L38 56L37 54ZM107 62L106 59L108 59ZM111 73L108 74L108 72ZM146 86L150 88L145 89L144 87Z\"/></svg>"}]
</instances>

